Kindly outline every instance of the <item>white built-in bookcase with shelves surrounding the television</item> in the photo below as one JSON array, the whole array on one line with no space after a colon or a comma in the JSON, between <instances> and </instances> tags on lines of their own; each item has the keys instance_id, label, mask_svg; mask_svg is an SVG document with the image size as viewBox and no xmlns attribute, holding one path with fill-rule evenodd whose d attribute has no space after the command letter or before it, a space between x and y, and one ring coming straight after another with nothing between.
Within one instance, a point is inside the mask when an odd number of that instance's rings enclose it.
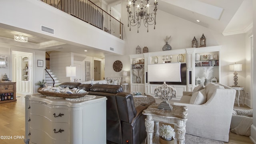
<instances>
[{"instance_id":1,"label":"white built-in bookcase with shelves surrounding the television","mask_svg":"<svg viewBox=\"0 0 256 144\"><path fill-rule=\"evenodd\" d=\"M152 84L148 82L148 64L155 64L155 58L158 58L158 64L167 62L179 62L179 57L182 56L183 60L181 64L186 63L186 84L169 84L175 87L177 90L177 96L175 100L180 100L183 91L192 91L196 85L196 78L200 77L202 83L204 83L205 75L204 70L206 68L211 68L208 76L208 82L211 82L213 77L220 81L220 49L221 46L208 46L202 48L184 48L178 50L168 50L160 52L147 52L143 54L132 54L130 55L131 62L131 92L139 91L142 93L150 94L154 96L154 89L160 84ZM167 58L168 56L168 58ZM198 56L200 57L198 59ZM204 56L204 57L203 57ZM201 58L202 57L202 58ZM141 78L140 84L136 82L136 76L133 74L134 62L135 64L139 60L144 61L143 66L141 66L141 72L144 71L143 79ZM198 66L199 64L199 66ZM200 65L203 64L203 65ZM208 65L207 65L208 64ZM212 66L211 66L212 65ZM136 66L135 66L136 67ZM140 66L138 65L138 68ZM140 76L141 77L141 76Z\"/></svg>"}]
</instances>

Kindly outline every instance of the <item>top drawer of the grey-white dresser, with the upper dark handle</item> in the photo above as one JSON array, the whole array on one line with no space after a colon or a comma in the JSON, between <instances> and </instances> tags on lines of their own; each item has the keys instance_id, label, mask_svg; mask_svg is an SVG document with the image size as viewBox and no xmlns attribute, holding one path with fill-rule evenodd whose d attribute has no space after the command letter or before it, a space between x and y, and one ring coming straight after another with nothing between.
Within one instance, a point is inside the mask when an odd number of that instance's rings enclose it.
<instances>
[{"instance_id":1,"label":"top drawer of the grey-white dresser, with the upper dark handle","mask_svg":"<svg viewBox=\"0 0 256 144\"><path fill-rule=\"evenodd\" d=\"M70 122L70 111L68 109L52 107L52 105L47 103L30 103L30 114L44 116L53 122Z\"/></svg>"}]
</instances>

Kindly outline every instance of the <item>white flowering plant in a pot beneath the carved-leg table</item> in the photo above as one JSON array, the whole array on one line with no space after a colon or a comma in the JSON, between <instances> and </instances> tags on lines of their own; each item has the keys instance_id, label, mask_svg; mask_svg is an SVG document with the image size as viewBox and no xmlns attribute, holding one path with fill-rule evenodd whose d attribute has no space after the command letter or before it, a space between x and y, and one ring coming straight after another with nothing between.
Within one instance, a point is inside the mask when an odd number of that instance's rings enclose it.
<instances>
[{"instance_id":1,"label":"white flowering plant in a pot beneath the carved-leg table","mask_svg":"<svg viewBox=\"0 0 256 144\"><path fill-rule=\"evenodd\" d=\"M159 128L159 137L161 144L174 144L175 132L170 125L163 124Z\"/></svg>"}]
</instances>

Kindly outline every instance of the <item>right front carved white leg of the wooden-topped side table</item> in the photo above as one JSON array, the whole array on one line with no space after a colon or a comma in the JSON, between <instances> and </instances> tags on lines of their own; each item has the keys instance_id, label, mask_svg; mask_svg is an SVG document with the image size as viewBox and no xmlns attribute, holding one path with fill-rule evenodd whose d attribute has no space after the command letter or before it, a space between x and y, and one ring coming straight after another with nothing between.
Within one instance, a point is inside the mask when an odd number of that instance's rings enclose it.
<instances>
[{"instance_id":1,"label":"right front carved white leg of the wooden-topped side table","mask_svg":"<svg viewBox=\"0 0 256 144\"><path fill-rule=\"evenodd\" d=\"M174 125L174 130L176 133L177 144L185 144L186 121L178 120L178 124Z\"/></svg>"}]
</instances>

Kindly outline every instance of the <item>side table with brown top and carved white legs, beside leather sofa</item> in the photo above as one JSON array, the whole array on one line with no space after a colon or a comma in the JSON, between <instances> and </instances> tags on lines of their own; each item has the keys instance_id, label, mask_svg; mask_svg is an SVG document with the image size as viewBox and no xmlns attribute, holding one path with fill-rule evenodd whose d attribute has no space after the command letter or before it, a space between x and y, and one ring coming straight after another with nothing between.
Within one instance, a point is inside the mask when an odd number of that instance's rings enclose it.
<instances>
[{"instance_id":1,"label":"side table with brown top and carved white legs, beside leather sofa","mask_svg":"<svg viewBox=\"0 0 256 144\"><path fill-rule=\"evenodd\" d=\"M174 125L174 130L176 133L177 144L185 144L185 134L186 134L186 121L187 121L187 107L186 106L175 106L172 105L172 110L161 110L158 109L158 103L153 103L148 106L146 110L142 112L142 114L146 115L145 126L147 132L146 141L148 144L152 144L153 142L153 132L154 126L155 135L159 135L158 132L158 124L159 122L164 122L168 124Z\"/></svg>"}]
</instances>

